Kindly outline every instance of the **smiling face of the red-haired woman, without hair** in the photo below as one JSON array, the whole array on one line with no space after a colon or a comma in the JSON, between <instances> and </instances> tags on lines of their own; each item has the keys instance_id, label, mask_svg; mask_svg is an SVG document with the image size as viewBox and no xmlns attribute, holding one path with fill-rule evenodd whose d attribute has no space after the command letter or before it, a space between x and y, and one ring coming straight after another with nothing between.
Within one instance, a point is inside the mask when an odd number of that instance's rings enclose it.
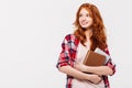
<instances>
[{"instance_id":1,"label":"smiling face of the red-haired woman, without hair","mask_svg":"<svg viewBox=\"0 0 132 88\"><path fill-rule=\"evenodd\" d=\"M79 12L79 24L82 29L89 29L92 24L92 18L88 10L82 8Z\"/></svg>"}]
</instances>

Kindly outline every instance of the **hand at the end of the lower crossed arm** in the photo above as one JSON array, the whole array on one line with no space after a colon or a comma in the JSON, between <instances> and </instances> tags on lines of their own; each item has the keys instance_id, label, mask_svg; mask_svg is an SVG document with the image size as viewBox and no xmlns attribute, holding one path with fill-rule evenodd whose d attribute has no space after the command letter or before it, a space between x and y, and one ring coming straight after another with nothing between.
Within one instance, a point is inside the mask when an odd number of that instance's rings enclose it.
<instances>
[{"instance_id":1,"label":"hand at the end of the lower crossed arm","mask_svg":"<svg viewBox=\"0 0 132 88\"><path fill-rule=\"evenodd\" d=\"M102 78L100 76L98 76L98 75L91 74L91 75L89 75L88 80L91 81L92 84L97 85L102 80Z\"/></svg>"}]
</instances>

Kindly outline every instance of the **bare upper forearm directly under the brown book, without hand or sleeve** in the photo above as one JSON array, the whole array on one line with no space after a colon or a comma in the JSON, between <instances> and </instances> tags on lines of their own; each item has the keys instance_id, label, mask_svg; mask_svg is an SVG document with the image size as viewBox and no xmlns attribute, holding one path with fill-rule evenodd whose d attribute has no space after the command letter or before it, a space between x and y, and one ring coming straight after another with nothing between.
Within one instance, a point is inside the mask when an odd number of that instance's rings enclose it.
<instances>
[{"instance_id":1,"label":"bare upper forearm directly under the brown book, without hand or sleeve","mask_svg":"<svg viewBox=\"0 0 132 88\"><path fill-rule=\"evenodd\" d=\"M108 66L98 66L98 67L91 67L91 66L87 66L86 67L86 72L87 73L94 73L97 75L112 75L112 69Z\"/></svg>"}]
</instances>

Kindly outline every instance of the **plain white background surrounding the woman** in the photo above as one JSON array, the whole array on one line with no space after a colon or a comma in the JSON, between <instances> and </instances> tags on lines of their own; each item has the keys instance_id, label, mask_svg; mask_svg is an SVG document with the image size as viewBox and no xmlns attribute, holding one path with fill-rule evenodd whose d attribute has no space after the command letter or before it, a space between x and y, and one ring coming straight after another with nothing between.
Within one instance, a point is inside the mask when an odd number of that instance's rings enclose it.
<instances>
[{"instance_id":1,"label":"plain white background surrounding the woman","mask_svg":"<svg viewBox=\"0 0 132 88\"><path fill-rule=\"evenodd\" d=\"M84 2L99 8L107 28L111 88L131 87L131 0L0 0L0 88L65 88L55 65Z\"/></svg>"}]
</instances>

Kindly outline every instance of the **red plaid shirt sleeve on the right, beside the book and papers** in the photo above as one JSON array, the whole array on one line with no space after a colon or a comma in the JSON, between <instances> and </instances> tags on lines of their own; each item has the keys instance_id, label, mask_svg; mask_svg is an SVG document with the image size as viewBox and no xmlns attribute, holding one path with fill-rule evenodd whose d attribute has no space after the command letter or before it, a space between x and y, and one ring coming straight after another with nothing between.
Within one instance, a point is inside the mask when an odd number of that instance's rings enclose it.
<instances>
[{"instance_id":1,"label":"red plaid shirt sleeve on the right, beside the book and papers","mask_svg":"<svg viewBox=\"0 0 132 88\"><path fill-rule=\"evenodd\" d=\"M108 55L110 55L108 47L105 48L105 52L106 52ZM113 74L116 73L116 64L113 63L113 61L112 61L111 57L110 57L110 58L108 59L108 62L106 63L106 66L109 66L109 67L113 70ZM112 75L113 75L113 74L112 74ZM111 75L111 76L112 76L112 75Z\"/></svg>"}]
</instances>

